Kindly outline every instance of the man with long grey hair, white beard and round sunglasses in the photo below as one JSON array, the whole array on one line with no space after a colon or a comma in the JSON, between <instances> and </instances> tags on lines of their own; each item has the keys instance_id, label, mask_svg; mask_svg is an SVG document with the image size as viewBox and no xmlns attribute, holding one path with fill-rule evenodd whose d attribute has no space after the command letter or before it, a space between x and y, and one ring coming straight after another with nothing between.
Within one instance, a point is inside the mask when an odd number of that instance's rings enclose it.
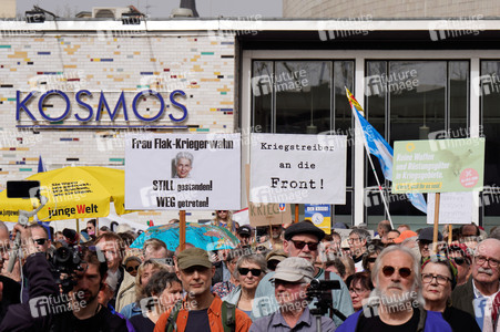
<instances>
[{"instance_id":1,"label":"man with long grey hair, white beard and round sunglasses","mask_svg":"<svg viewBox=\"0 0 500 332\"><path fill-rule=\"evenodd\" d=\"M375 289L368 304L351 314L337 332L451 331L440 312L424 309L420 261L410 249L384 249L375 262L371 281Z\"/></svg>"}]
</instances>

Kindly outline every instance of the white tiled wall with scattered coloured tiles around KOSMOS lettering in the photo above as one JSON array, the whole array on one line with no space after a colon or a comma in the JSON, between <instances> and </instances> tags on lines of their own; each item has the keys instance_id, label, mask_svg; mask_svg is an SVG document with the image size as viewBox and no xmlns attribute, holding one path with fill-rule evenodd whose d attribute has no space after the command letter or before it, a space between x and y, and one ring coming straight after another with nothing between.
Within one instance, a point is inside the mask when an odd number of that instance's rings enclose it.
<instances>
[{"instance_id":1,"label":"white tiled wall with scattered coloured tiles around KOSMOS lettering","mask_svg":"<svg viewBox=\"0 0 500 332\"><path fill-rule=\"evenodd\" d=\"M92 23L89 23L92 24ZM91 28L89 28L91 29ZM111 124L104 111L102 121L95 121L101 91L111 111L122 91L125 92L130 122L120 110L115 124L144 124L187 128L161 128L156 132L233 132L234 131L234 41L231 37L208 38L206 33L162 35L154 33L121 35L118 32L61 35L9 35L0 40L0 190L9 179L23 179L37 173L39 156L48 169L69 165L93 165L123 168L124 144L132 129L92 128ZM165 101L162 120L144 123L132 112L132 101L143 90L160 92ZM62 122L42 121L38 111L41 93L32 97L29 110L16 121L17 91L24 98L30 91L61 90L71 101L71 115ZM86 100L94 110L93 120L80 123L74 114L89 113L75 102L75 92L89 90ZM185 97L177 101L187 108L187 120L170 121L167 114L182 115L173 108L169 96L172 90L182 90ZM65 103L59 96L45 100L43 110L51 117L64 112ZM142 116L154 116L159 101L147 97L140 103ZM38 128L18 128L17 125L40 125ZM75 128L41 128L44 125L75 126ZM84 127L84 128L83 128ZM170 218L170 217L169 217Z\"/></svg>"}]
</instances>

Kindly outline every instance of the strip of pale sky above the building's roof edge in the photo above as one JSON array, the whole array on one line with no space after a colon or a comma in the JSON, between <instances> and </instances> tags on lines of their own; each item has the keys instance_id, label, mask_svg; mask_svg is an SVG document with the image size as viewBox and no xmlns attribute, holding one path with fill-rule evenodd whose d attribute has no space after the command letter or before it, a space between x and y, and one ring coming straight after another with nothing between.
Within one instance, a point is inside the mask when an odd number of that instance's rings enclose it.
<instances>
[{"instance_id":1,"label":"strip of pale sky above the building's roof edge","mask_svg":"<svg viewBox=\"0 0 500 332\"><path fill-rule=\"evenodd\" d=\"M135 6L141 12L151 18L167 18L174 8L178 8L180 0L17 0L17 13L24 15L33 4L39 6L58 15L67 17L80 11L91 11L92 7L126 7ZM197 0L196 10L201 18L215 17L252 17L280 18L283 15L282 0Z\"/></svg>"}]
</instances>

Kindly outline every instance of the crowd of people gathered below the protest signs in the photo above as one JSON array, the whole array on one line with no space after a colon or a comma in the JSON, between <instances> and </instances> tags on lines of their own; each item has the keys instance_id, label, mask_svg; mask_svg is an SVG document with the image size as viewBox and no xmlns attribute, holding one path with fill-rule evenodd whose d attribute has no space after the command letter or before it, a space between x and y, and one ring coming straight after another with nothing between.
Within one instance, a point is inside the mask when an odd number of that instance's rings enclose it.
<instances>
[{"instance_id":1,"label":"crowd of people gathered below the protest signs","mask_svg":"<svg viewBox=\"0 0 500 332\"><path fill-rule=\"evenodd\" d=\"M132 249L123 225L10 232L0 221L0 331L500 331L500 228L445 228L435 242L431 227L388 220L325 234L217 210L213 224L239 246Z\"/></svg>"}]
</instances>

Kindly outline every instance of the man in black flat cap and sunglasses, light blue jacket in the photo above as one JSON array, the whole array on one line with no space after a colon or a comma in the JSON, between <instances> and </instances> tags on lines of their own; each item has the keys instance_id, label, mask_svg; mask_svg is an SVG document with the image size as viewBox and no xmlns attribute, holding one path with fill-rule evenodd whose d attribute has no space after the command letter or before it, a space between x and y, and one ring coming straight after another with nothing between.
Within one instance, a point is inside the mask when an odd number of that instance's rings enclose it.
<instances>
[{"instance_id":1,"label":"man in black flat cap and sunglasses, light blue jacket","mask_svg":"<svg viewBox=\"0 0 500 332\"><path fill-rule=\"evenodd\" d=\"M304 258L313 264L318 256L319 241L324 237L325 232L313 222L300 221L293 224L285 230L283 248L289 257ZM253 305L253 314L255 318L258 318L259 315L269 315L278 309L274 295L275 289L271 283L271 278L273 277L274 272L267 273L258 283ZM340 289L331 290L333 308L345 317L348 317L354 312L349 290L339 276L330 273L329 271L325 272L322 268L315 267L313 278L318 280L338 280L340 282ZM312 308L314 308L314 305L315 303L310 303ZM334 315L333 319L337 326L343 322L337 315Z\"/></svg>"}]
</instances>

